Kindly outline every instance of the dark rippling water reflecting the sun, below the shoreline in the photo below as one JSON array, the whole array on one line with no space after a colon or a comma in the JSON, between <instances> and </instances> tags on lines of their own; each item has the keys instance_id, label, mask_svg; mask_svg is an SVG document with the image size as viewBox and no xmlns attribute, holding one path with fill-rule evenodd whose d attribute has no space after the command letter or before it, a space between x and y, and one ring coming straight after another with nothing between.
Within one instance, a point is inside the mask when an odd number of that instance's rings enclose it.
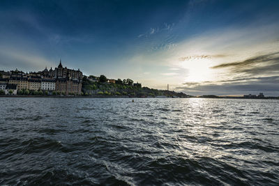
<instances>
[{"instance_id":1,"label":"dark rippling water reflecting the sun, below the shoreline","mask_svg":"<svg viewBox=\"0 0 279 186\"><path fill-rule=\"evenodd\" d=\"M278 185L279 101L0 98L0 185Z\"/></svg>"}]
</instances>

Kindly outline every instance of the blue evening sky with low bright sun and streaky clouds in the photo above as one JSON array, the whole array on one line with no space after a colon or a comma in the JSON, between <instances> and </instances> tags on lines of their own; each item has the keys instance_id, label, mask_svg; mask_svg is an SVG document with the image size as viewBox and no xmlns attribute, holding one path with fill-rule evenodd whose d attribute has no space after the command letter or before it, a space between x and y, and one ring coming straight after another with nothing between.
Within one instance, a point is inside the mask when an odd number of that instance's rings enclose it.
<instances>
[{"instance_id":1,"label":"blue evening sky with low bright sun and streaky clouds","mask_svg":"<svg viewBox=\"0 0 279 186\"><path fill-rule=\"evenodd\" d=\"M190 95L279 95L279 1L0 1L0 70L62 65Z\"/></svg>"}]
</instances>

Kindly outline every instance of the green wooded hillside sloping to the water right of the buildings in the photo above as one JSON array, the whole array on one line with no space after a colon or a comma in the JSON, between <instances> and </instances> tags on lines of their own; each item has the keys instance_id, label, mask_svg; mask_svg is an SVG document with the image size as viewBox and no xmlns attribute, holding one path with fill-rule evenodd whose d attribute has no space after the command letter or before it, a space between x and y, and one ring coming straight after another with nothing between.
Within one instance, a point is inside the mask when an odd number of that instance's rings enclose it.
<instances>
[{"instance_id":1,"label":"green wooded hillside sloping to the water right of the buildings","mask_svg":"<svg viewBox=\"0 0 279 186\"><path fill-rule=\"evenodd\" d=\"M142 87L141 84L134 84L132 79L117 79L115 83L107 82L107 77L100 75L97 82L91 80L93 77L82 79L82 95L118 95L130 97L179 97L188 98L184 93L174 91L159 91L157 89Z\"/></svg>"}]
</instances>

